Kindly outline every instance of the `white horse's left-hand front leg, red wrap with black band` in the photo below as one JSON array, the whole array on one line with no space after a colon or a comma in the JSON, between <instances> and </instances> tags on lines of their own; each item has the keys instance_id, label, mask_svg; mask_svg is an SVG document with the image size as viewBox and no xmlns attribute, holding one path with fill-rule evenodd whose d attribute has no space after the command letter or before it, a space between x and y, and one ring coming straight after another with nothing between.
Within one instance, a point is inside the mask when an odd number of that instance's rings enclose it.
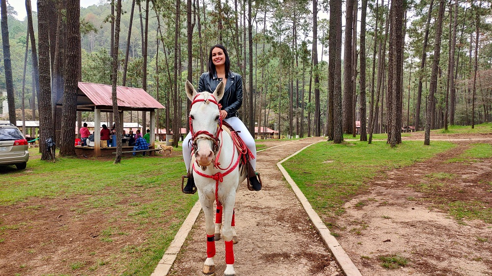
<instances>
[{"instance_id":1,"label":"white horse's left-hand front leg, red wrap with black band","mask_svg":"<svg viewBox=\"0 0 492 276\"><path fill-rule=\"evenodd\" d=\"M207 259L203 264L203 274L210 275L215 272L214 200L202 195L200 203L205 214L205 231L207 232Z\"/></svg>"}]
</instances>

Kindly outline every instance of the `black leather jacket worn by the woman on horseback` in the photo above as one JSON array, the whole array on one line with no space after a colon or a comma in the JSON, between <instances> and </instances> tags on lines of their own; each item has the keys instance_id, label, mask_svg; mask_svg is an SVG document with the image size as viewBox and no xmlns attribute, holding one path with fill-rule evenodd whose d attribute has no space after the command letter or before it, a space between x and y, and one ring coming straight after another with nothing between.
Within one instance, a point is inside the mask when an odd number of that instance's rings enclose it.
<instances>
[{"instance_id":1,"label":"black leather jacket worn by the woman on horseback","mask_svg":"<svg viewBox=\"0 0 492 276\"><path fill-rule=\"evenodd\" d=\"M221 81L222 78L217 78L217 74L214 74L214 77L211 78L208 72L203 73L198 81L198 92L214 93L215 88ZM226 118L237 116L238 110L243 104L243 77L241 75L229 71L224 96L219 101L219 104L222 105L222 110L227 111Z\"/></svg>"}]
</instances>

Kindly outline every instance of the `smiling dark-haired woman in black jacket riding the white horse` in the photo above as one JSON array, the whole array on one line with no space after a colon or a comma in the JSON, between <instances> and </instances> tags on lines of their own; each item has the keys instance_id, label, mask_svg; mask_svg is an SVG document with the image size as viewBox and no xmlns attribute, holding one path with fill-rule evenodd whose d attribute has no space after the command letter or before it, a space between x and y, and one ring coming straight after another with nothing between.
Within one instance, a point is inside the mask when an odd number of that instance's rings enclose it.
<instances>
[{"instance_id":1,"label":"smiling dark-haired woman in black jacket riding the white horse","mask_svg":"<svg viewBox=\"0 0 492 276\"><path fill-rule=\"evenodd\" d=\"M249 133L243 121L237 117L238 110L243 104L243 77L230 71L231 61L229 54L224 46L217 44L210 48L208 69L209 72L203 73L198 81L198 92L213 93L220 82L225 84L224 96L219 101L221 105L220 117L238 132L239 137L243 139L248 149L254 155L249 159L253 171L256 171L256 145L254 138ZM191 163L191 132L183 140L183 159L186 165L186 171L189 172ZM188 173L188 175L192 175ZM254 191L261 190L261 184L256 176L249 177L249 182ZM193 193L195 191L195 182L193 177L188 177L184 193Z\"/></svg>"}]
</instances>

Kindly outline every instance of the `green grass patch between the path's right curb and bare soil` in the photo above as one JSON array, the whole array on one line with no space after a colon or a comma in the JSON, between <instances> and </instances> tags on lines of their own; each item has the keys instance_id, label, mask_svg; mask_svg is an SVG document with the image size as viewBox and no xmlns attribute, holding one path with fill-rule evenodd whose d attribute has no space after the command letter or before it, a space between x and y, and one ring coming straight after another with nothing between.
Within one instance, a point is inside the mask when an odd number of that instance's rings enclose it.
<instances>
[{"instance_id":1,"label":"green grass patch between the path's right curb and bare soil","mask_svg":"<svg viewBox=\"0 0 492 276\"><path fill-rule=\"evenodd\" d=\"M337 216L342 205L367 189L365 182L381 171L429 159L455 145L435 141L404 141L391 148L386 141L314 144L283 163L290 176L320 215Z\"/></svg>"}]
</instances>

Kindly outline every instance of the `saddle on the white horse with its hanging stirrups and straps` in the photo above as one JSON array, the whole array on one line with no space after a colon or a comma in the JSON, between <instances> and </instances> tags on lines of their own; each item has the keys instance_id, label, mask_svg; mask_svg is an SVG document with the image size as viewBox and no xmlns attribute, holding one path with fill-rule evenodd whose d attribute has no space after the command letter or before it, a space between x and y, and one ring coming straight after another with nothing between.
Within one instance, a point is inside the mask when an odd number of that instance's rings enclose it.
<instances>
[{"instance_id":1,"label":"saddle on the white horse with its hanging stirrups and straps","mask_svg":"<svg viewBox=\"0 0 492 276\"><path fill-rule=\"evenodd\" d=\"M249 191L254 191L253 188L251 187L250 182L249 182L250 177L258 176L258 181L263 186L263 183L261 182L260 174L256 171L254 171L254 169L251 167L251 164L249 163L249 159L253 158L253 154L251 153L251 151L249 151L249 149L247 148L243 139L239 135L237 135L239 132L235 131L234 128L225 121L222 121L222 131L227 132L231 136L233 143L237 147L237 150L240 151L241 160L239 162L239 167L240 167L240 170L243 168L246 168L247 189ZM185 193L184 192L184 178L192 178L192 177L193 177L193 173L192 173L192 169L190 166L190 169L188 170L187 174L183 175L181 178L182 179L181 180L181 190L183 191L183 193ZM193 193L196 193L196 188L193 191Z\"/></svg>"}]
</instances>

